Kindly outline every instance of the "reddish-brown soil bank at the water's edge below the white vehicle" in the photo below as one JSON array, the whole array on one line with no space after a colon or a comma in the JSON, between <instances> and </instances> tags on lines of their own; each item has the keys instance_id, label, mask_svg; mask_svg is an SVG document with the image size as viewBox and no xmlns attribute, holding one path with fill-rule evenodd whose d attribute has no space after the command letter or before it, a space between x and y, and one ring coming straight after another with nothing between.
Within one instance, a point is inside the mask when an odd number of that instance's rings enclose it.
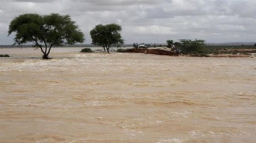
<instances>
[{"instance_id":1,"label":"reddish-brown soil bank at the water's edge below the white vehicle","mask_svg":"<svg viewBox=\"0 0 256 143\"><path fill-rule=\"evenodd\" d=\"M124 52L126 53L145 53L145 54L161 54L161 55L168 55L168 56L178 56L177 53L170 52L167 50L160 50L160 49L127 49Z\"/></svg>"}]
</instances>

